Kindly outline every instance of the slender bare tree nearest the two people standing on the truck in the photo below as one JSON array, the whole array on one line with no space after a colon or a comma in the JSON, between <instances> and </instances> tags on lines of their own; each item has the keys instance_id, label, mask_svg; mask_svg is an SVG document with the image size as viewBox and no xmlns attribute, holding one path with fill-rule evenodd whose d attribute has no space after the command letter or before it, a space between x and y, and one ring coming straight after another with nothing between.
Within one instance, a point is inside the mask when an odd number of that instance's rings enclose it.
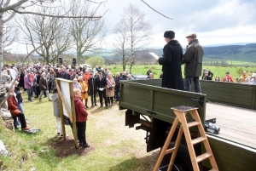
<instances>
[{"instance_id":1,"label":"slender bare tree nearest the two people standing on the truck","mask_svg":"<svg viewBox=\"0 0 256 171\"><path fill-rule=\"evenodd\" d=\"M113 50L122 55L124 70L126 64L130 64L131 73L140 50L149 44L151 26L148 21L145 21L145 14L130 4L125 8L114 31L116 38L112 45Z\"/></svg>"}]
</instances>

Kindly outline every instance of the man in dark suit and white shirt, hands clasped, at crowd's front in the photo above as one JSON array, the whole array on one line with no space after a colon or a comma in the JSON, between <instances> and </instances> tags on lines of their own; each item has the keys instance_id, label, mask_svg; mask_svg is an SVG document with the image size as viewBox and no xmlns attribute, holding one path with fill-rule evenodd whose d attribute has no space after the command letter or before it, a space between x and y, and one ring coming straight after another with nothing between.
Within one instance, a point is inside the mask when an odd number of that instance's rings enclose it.
<instances>
[{"instance_id":1,"label":"man in dark suit and white shirt, hands clasped, at crowd's front","mask_svg":"<svg viewBox=\"0 0 256 171\"><path fill-rule=\"evenodd\" d=\"M99 71L99 77L96 77L96 88L97 88L98 94L100 96L101 108L103 107L103 102L102 102L102 96L103 96L105 105L106 105L106 109L108 109L106 86L107 86L106 77L103 77L102 71Z\"/></svg>"}]
</instances>

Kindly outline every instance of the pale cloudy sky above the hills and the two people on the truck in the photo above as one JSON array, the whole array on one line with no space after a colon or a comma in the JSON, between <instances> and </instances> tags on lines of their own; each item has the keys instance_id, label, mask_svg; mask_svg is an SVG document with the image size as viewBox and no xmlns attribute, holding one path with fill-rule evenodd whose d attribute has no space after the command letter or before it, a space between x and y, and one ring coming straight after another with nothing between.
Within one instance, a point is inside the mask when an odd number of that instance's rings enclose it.
<instances>
[{"instance_id":1,"label":"pale cloudy sky above the hills and the two people on the truck","mask_svg":"<svg viewBox=\"0 0 256 171\"><path fill-rule=\"evenodd\" d=\"M97 0L100 1L100 0ZM102 11L108 28L106 40L113 37L113 27L129 3L146 14L152 26L150 47L165 45L164 31L172 30L176 39L185 46L185 36L195 32L202 45L223 43L256 43L256 0L144 0L166 19L149 9L141 0L108 0Z\"/></svg>"}]
</instances>

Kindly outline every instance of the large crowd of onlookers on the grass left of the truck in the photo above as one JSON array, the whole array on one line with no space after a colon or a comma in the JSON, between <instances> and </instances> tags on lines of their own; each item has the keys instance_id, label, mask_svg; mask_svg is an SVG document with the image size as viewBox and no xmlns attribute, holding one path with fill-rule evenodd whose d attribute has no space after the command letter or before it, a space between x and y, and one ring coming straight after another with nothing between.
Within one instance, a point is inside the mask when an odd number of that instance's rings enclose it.
<instances>
[{"instance_id":1,"label":"large crowd of onlookers on the grass left of the truck","mask_svg":"<svg viewBox=\"0 0 256 171\"><path fill-rule=\"evenodd\" d=\"M26 118L22 107L22 94L27 93L27 100L33 102L38 98L42 101L42 96L47 97L49 101L53 101L54 116L56 118L56 132L63 136L61 129L61 115L58 100L58 91L55 85L55 78L62 78L73 81L74 104L76 111L76 127L79 145L86 148L90 145L86 141L85 129L88 113L85 110L89 108L88 98L90 96L91 106L97 105L96 95L99 96L100 108L113 106L114 101L119 102L119 81L131 80L131 74L127 70L121 73L117 72L115 76L108 70L96 66L89 68L84 66L67 66L56 64L34 64L28 66L11 65L4 66L3 70L9 71L14 88L10 88L11 84L6 87L9 93L7 100L8 109L14 118L15 128L21 127L22 130L28 130L26 126ZM20 72L20 74L19 74ZM148 79L151 79L153 74L149 74ZM52 96L49 93L52 92ZM70 118L64 116L64 123L70 125L73 129L73 123Z\"/></svg>"}]
</instances>

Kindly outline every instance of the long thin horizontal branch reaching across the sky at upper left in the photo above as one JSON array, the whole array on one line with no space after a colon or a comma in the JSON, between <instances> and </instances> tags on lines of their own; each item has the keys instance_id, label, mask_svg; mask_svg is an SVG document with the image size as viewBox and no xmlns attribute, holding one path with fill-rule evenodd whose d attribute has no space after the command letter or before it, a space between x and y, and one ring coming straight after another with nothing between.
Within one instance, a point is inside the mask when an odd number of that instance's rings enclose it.
<instances>
[{"instance_id":1,"label":"long thin horizontal branch reaching across the sky at upper left","mask_svg":"<svg viewBox=\"0 0 256 171\"><path fill-rule=\"evenodd\" d=\"M13 10L15 11L15 13L18 13L18 14L36 14L36 15L40 15L40 16L46 16L46 17L52 17L52 18L60 18L60 19L81 19L81 18L84 18L84 19L101 19L102 16L65 16L65 15L52 15L52 14L41 14L41 13L34 13L34 12L29 12L29 11L19 11L19 10L16 10L16 9L10 9L10 10Z\"/></svg>"}]
</instances>

